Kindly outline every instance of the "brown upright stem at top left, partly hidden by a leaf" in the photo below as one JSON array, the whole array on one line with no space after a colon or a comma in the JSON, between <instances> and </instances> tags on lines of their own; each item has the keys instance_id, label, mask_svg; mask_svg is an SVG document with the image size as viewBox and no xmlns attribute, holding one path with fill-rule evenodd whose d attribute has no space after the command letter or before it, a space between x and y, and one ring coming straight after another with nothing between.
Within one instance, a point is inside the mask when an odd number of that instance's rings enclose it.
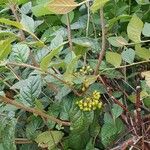
<instances>
[{"instance_id":1,"label":"brown upright stem at top left, partly hidden by a leaf","mask_svg":"<svg viewBox=\"0 0 150 150\"><path fill-rule=\"evenodd\" d=\"M16 21L17 21L17 22L20 22L19 16L18 16L18 14L17 14L16 5L15 5L15 4L10 4L9 7L10 7L10 9L11 9L11 11L12 11L12 13L13 13L15 19L16 19ZM21 29L19 30L19 32L20 32L20 39L21 39L21 41L24 41L24 40L25 40L24 32L23 32Z\"/></svg>"}]
</instances>

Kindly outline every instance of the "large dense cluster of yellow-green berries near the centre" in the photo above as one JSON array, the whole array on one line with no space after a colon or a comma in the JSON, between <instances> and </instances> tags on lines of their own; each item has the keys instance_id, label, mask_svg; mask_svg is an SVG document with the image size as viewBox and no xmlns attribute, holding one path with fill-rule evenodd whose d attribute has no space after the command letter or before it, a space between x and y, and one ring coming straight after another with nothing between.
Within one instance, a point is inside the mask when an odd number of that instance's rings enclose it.
<instances>
[{"instance_id":1,"label":"large dense cluster of yellow-green berries near the centre","mask_svg":"<svg viewBox=\"0 0 150 150\"><path fill-rule=\"evenodd\" d=\"M102 107L102 102L100 102L100 92L94 91L91 96L81 99L77 101L76 104L83 111L92 111L97 108L100 109Z\"/></svg>"}]
</instances>

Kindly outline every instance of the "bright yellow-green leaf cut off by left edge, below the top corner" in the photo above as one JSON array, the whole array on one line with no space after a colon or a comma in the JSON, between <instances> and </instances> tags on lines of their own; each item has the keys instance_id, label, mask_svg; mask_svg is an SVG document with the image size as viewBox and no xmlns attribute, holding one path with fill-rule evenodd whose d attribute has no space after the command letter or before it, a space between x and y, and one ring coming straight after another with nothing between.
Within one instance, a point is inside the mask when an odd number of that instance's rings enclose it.
<instances>
[{"instance_id":1,"label":"bright yellow-green leaf cut off by left edge, below the top corner","mask_svg":"<svg viewBox=\"0 0 150 150\"><path fill-rule=\"evenodd\" d=\"M0 41L0 60L5 59L11 52L12 39Z\"/></svg>"}]
</instances>

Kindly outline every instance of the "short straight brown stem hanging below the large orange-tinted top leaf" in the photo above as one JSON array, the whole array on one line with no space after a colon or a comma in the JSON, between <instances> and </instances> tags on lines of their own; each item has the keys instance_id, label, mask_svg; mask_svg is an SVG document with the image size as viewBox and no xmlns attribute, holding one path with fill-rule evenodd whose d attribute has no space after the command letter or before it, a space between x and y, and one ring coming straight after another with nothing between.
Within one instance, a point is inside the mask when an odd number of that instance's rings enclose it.
<instances>
[{"instance_id":1,"label":"short straight brown stem hanging below the large orange-tinted top leaf","mask_svg":"<svg viewBox=\"0 0 150 150\"><path fill-rule=\"evenodd\" d=\"M70 27L70 18L69 14L66 14L66 19L67 19L67 33L68 33L68 40L69 40L69 46L70 50L73 50L73 45L72 45L72 37L71 37L71 27Z\"/></svg>"}]
</instances>

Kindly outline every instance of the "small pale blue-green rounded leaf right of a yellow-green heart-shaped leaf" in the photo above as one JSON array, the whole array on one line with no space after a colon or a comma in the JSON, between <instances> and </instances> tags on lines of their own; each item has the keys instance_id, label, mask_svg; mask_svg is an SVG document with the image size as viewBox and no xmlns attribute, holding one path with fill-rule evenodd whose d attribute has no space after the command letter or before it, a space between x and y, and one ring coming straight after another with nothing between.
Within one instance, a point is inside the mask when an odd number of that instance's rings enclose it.
<instances>
[{"instance_id":1,"label":"small pale blue-green rounded leaf right of a yellow-green heart-shaped leaf","mask_svg":"<svg viewBox=\"0 0 150 150\"><path fill-rule=\"evenodd\" d=\"M125 49L122 53L121 53L122 59L131 64L134 61L135 58L135 51L132 48L129 49Z\"/></svg>"}]
</instances>

